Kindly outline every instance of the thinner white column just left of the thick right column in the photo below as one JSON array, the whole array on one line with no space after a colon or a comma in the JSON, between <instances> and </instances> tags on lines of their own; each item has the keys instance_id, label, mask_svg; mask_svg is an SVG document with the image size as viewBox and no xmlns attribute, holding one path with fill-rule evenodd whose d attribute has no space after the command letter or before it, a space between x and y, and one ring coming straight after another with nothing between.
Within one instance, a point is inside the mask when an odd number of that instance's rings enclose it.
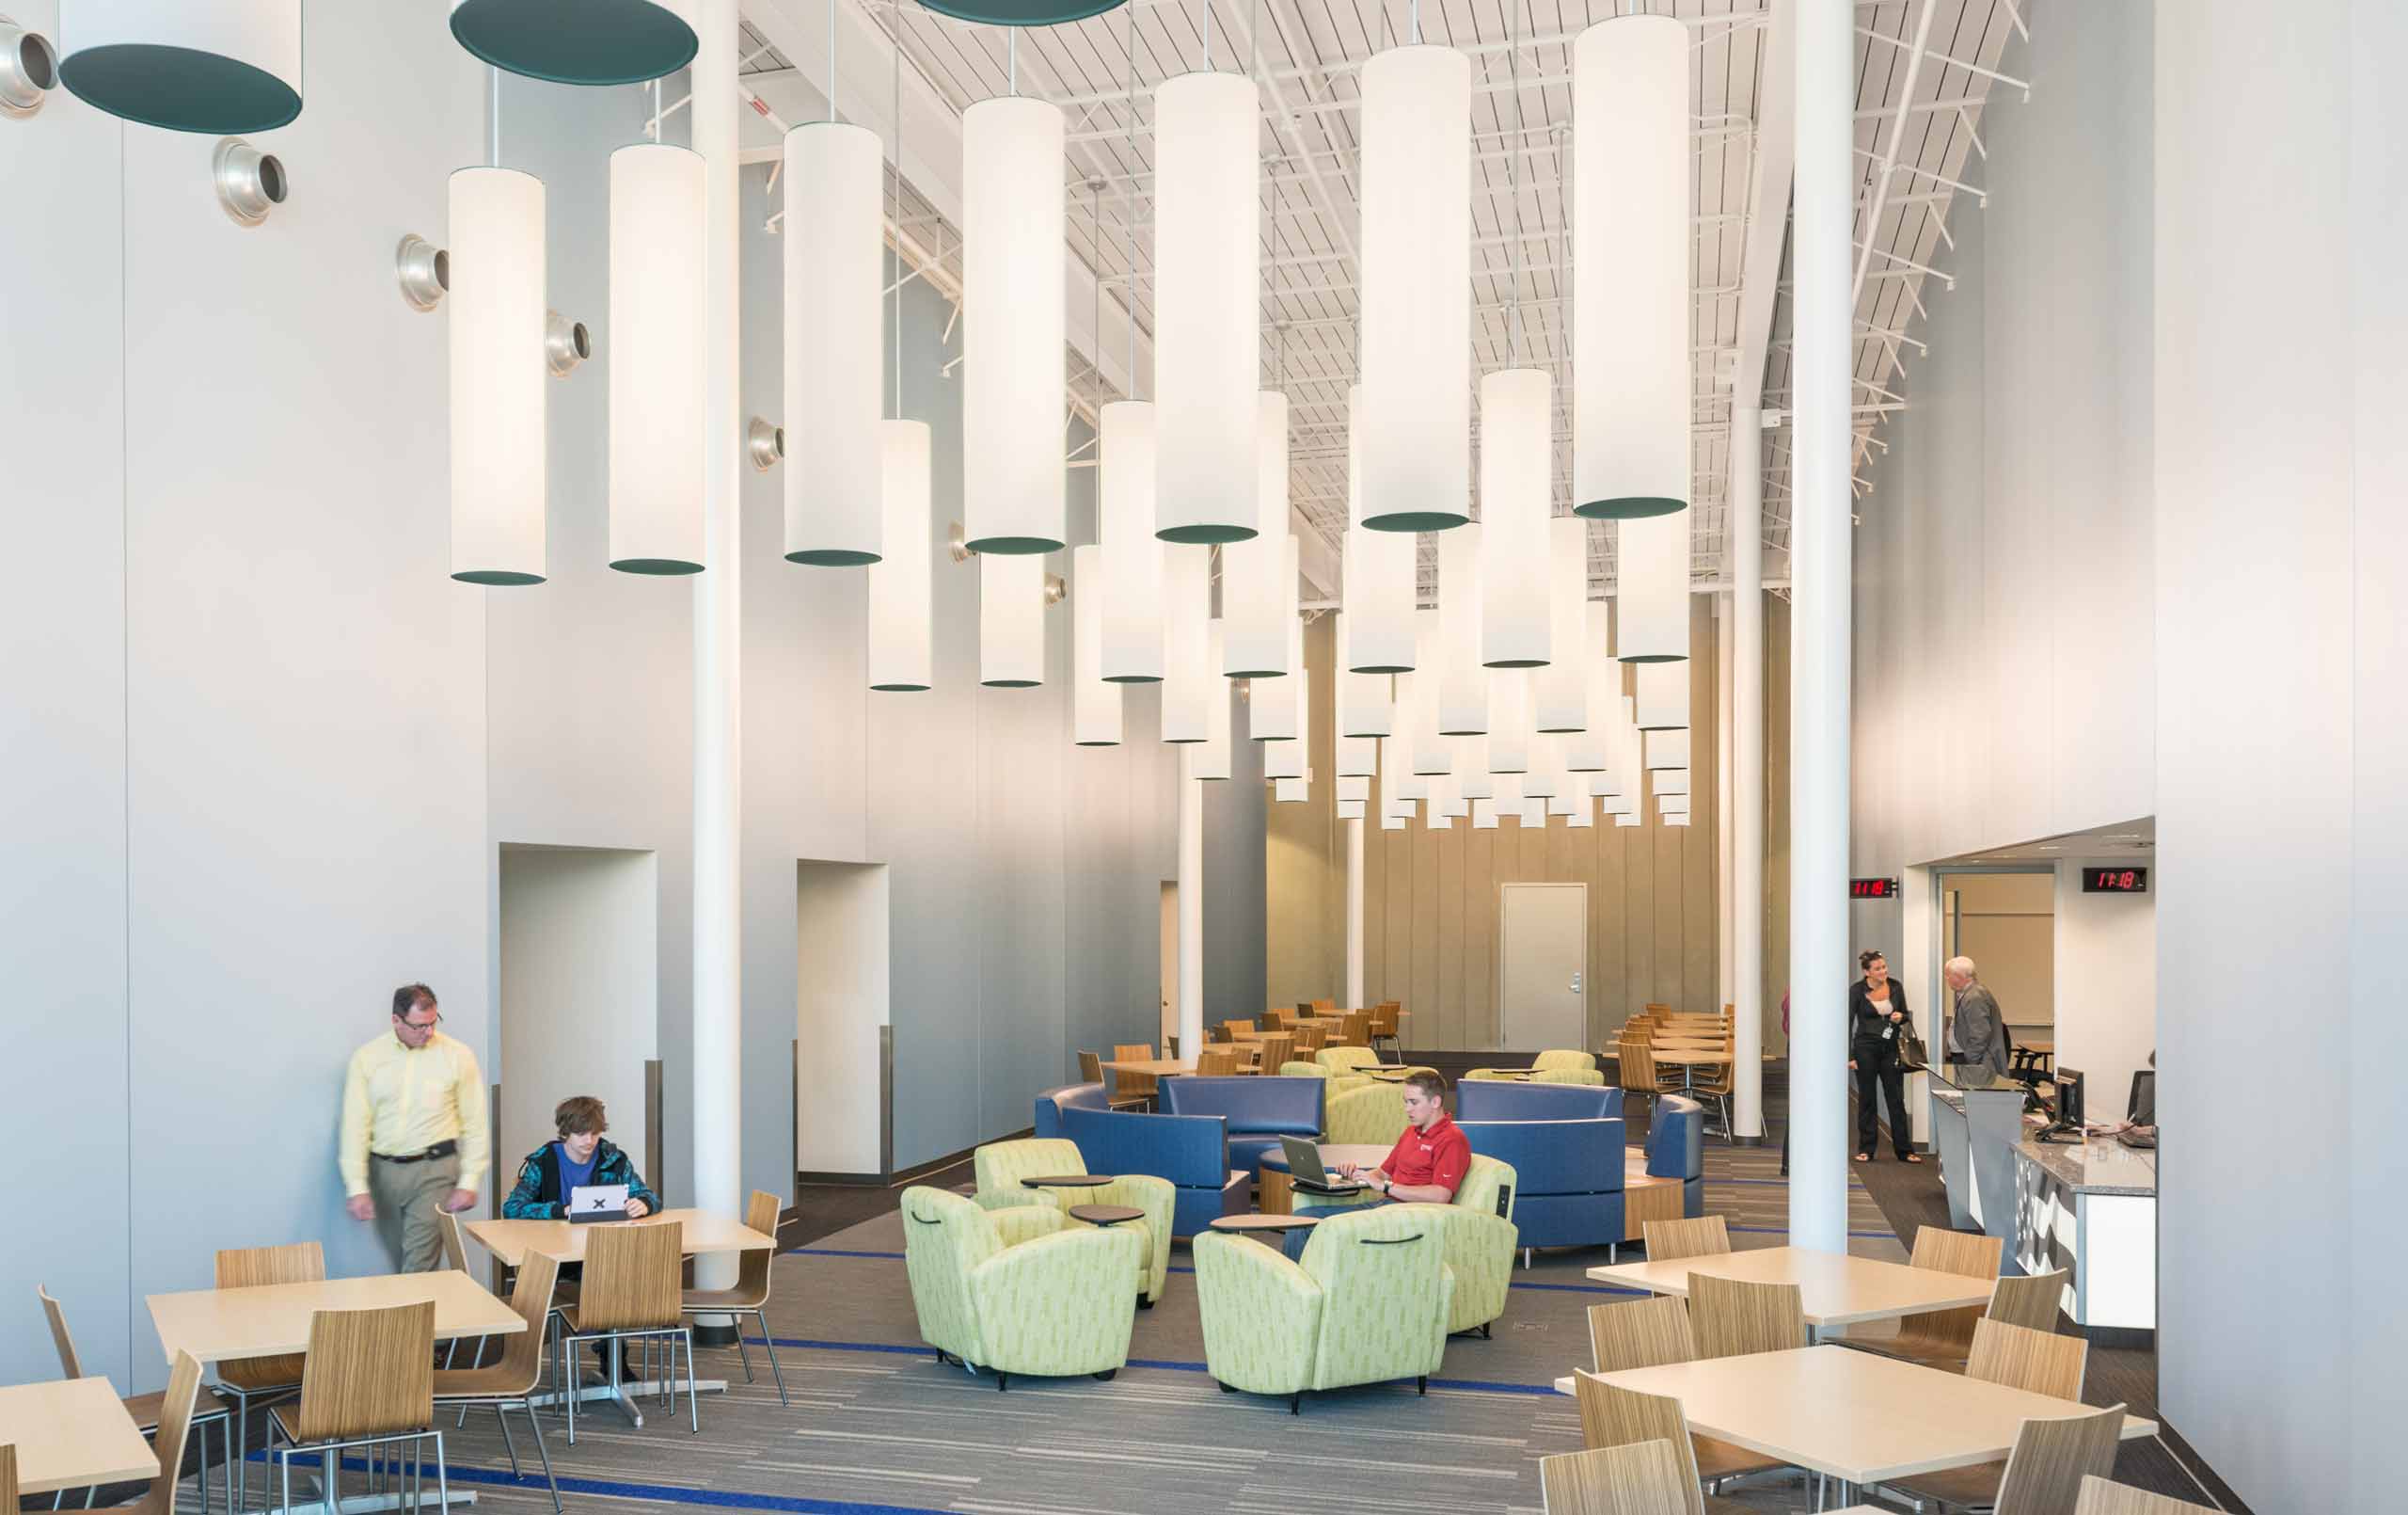
<instances>
[{"instance_id":1,"label":"thinner white column just left of the thick right column","mask_svg":"<svg viewBox=\"0 0 2408 1515\"><path fill-rule=\"evenodd\" d=\"M1763 412L1731 407L1731 1134L1765 1134L1765 460ZM1792 1067L1796 1062L1792 1060ZM1796 1108L1796 1074L1792 1074Z\"/></svg>"}]
</instances>

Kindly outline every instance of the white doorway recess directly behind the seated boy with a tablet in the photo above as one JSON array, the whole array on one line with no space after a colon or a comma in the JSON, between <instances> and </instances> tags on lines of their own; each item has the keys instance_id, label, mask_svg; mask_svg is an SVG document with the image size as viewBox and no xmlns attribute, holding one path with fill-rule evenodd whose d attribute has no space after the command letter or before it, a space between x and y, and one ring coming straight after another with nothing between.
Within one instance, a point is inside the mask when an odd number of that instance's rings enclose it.
<instances>
[{"instance_id":1,"label":"white doorway recess directly behind the seated boy with a tablet","mask_svg":"<svg viewBox=\"0 0 2408 1515\"><path fill-rule=\"evenodd\" d=\"M518 1161L551 1142L551 1110L590 1093L609 1110L609 1139L645 1159L643 1065L660 1041L657 862L602 848L501 850L501 1084L494 1132L498 1195ZM496 1195L496 1199L498 1199Z\"/></svg>"}]
</instances>

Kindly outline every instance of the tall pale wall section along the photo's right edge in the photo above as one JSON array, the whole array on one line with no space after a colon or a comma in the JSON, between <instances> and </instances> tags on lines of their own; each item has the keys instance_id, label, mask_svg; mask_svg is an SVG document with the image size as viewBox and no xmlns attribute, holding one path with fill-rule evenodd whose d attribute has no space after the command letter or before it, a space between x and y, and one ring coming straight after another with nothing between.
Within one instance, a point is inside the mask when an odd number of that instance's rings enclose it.
<instances>
[{"instance_id":1,"label":"tall pale wall section along the photo's right edge","mask_svg":"<svg viewBox=\"0 0 2408 1515\"><path fill-rule=\"evenodd\" d=\"M2155 24L2160 1387L2254 1508L2386 1508L2408 17L2179 0ZM2321 1077L2237 1118L2288 1024Z\"/></svg>"}]
</instances>

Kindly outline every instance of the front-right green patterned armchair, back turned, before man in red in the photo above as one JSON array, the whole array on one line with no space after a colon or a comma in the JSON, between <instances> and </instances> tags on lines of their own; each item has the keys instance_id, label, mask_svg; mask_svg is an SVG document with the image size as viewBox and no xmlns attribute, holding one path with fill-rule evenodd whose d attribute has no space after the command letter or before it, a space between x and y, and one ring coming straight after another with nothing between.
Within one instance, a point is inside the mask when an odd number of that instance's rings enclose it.
<instances>
[{"instance_id":1,"label":"front-right green patterned armchair, back turned, before man in red","mask_svg":"<svg viewBox=\"0 0 2408 1515\"><path fill-rule=\"evenodd\" d=\"M1223 1392L1291 1395L1413 1378L1447 1354L1445 1204L1382 1204L1312 1228L1305 1260L1218 1231L1194 1238L1204 1366Z\"/></svg>"}]
</instances>

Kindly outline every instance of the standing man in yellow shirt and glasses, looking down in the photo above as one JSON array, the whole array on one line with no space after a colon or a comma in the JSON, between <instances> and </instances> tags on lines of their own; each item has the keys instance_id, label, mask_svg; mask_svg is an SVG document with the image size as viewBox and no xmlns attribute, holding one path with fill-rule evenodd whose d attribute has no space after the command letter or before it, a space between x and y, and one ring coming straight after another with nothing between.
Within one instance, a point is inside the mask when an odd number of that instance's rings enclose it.
<instances>
[{"instance_id":1,"label":"standing man in yellow shirt and glasses, looking down","mask_svg":"<svg viewBox=\"0 0 2408 1515\"><path fill-rule=\"evenodd\" d=\"M443 1267L438 1212L477 1202L491 1149L477 1055L438 1024L424 983L393 990L393 1033L352 1053L342 1086L347 1209L405 1274Z\"/></svg>"}]
</instances>

